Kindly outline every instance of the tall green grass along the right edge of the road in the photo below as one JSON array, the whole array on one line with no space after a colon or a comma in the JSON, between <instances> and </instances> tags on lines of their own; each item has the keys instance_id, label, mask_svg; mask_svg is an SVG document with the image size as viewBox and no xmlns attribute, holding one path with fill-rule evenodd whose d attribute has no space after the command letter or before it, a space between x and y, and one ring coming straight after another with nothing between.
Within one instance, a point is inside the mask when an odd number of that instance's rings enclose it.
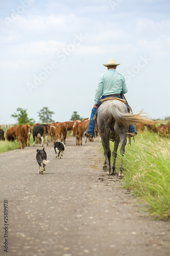
<instances>
[{"instance_id":1,"label":"tall green grass along the right edge of the road","mask_svg":"<svg viewBox=\"0 0 170 256\"><path fill-rule=\"evenodd\" d=\"M113 143L110 142L111 151ZM116 159L119 171L120 147ZM122 185L138 196L145 210L156 219L170 219L170 141L155 133L135 136L126 145Z\"/></svg>"}]
</instances>

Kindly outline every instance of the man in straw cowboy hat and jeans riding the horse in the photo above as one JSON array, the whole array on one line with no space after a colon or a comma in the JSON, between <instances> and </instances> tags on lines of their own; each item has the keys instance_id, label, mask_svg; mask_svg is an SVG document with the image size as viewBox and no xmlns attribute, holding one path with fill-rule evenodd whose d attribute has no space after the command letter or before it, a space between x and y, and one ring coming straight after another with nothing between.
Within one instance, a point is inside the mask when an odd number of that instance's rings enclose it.
<instances>
[{"instance_id":1,"label":"man in straw cowboy hat and jeans riding the horse","mask_svg":"<svg viewBox=\"0 0 170 256\"><path fill-rule=\"evenodd\" d=\"M94 136L93 117L100 106L100 100L107 97L118 97L123 99L122 94L128 92L124 76L115 70L120 63L116 64L114 59L109 59L107 64L103 65L107 67L108 70L100 76L98 88L95 90L94 106L91 111L88 129L85 132L85 136L88 138L93 138ZM135 126L131 125L131 136L136 134Z\"/></svg>"}]
</instances>

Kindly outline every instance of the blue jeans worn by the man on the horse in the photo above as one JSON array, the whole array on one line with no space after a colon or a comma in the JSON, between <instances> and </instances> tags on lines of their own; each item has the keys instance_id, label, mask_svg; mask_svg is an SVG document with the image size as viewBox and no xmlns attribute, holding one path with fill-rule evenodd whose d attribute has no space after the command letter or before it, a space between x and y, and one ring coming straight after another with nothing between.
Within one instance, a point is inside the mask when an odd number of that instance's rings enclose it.
<instances>
[{"instance_id":1,"label":"blue jeans worn by the man on the horse","mask_svg":"<svg viewBox=\"0 0 170 256\"><path fill-rule=\"evenodd\" d=\"M105 98L107 98L107 97L110 97L110 96L109 96L109 95L102 96L102 97L100 98L100 100L101 100L101 99L105 99ZM122 98L120 95L113 96L113 97ZM100 100L99 100L99 102L98 102L98 108L99 108L99 106L100 106ZM127 105L127 103L126 103L126 105ZM93 108L92 108L92 110L91 110L91 116L90 116L90 121L89 121L89 124L88 124L88 129L87 129L87 132L88 132L90 135L94 135L94 120L93 120L93 119L91 120L91 118L93 118L93 116L95 116L96 110L98 110L98 109L95 109L94 106L93 106ZM134 133L134 132L135 132L135 126L134 126L134 125L131 125L131 133Z\"/></svg>"}]
</instances>

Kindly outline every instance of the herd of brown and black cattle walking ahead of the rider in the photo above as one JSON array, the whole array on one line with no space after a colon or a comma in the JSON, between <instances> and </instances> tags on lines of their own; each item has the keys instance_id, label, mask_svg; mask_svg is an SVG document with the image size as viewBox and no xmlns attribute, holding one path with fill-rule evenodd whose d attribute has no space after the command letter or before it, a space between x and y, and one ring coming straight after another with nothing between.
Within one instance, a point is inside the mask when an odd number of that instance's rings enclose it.
<instances>
[{"instance_id":1,"label":"herd of brown and black cattle walking ahead of the rider","mask_svg":"<svg viewBox=\"0 0 170 256\"><path fill-rule=\"evenodd\" d=\"M25 146L30 146L30 136L33 134L33 146L35 143L41 143L43 146L44 137L46 138L46 144L48 145L49 141L54 141L54 144L57 141L61 141L65 144L67 132L71 131L71 135L74 134L76 138L76 145L82 145L82 137L84 132L87 130L89 120L88 118L76 121L66 121L66 122L53 122L47 124L35 123L34 127L29 124L13 126L7 130L6 136L4 131L0 129L0 140L5 140L5 137L8 141L17 140L19 143L19 149L25 148ZM144 125L141 123L135 124L135 129L137 131L143 132L145 127L150 132L158 133L160 136L170 138L170 122L167 124L160 124L159 126L155 125ZM92 140L93 139L89 139ZM21 145L20 145L21 144Z\"/></svg>"}]
</instances>

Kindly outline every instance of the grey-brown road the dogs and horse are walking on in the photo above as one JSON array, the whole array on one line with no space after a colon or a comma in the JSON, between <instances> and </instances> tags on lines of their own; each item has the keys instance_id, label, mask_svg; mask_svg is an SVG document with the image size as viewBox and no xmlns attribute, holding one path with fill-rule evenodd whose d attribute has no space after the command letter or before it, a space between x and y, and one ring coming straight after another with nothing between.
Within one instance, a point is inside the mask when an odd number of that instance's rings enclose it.
<instances>
[{"instance_id":1,"label":"grey-brown road the dogs and horse are walking on","mask_svg":"<svg viewBox=\"0 0 170 256\"><path fill-rule=\"evenodd\" d=\"M170 254L169 222L147 218L119 178L102 171L98 139L76 146L67 138L62 159L53 142L44 146L50 160L44 175L35 158L40 145L0 155L0 255Z\"/></svg>"}]
</instances>

